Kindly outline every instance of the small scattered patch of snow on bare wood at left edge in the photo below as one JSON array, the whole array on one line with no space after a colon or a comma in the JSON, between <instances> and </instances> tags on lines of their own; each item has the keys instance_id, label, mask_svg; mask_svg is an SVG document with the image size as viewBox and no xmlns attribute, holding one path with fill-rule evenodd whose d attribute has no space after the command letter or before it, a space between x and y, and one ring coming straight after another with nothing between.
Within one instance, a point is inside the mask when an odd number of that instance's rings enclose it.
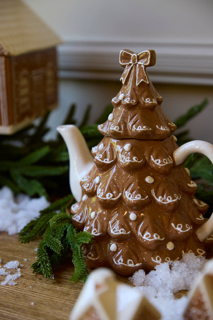
<instances>
[{"instance_id":1,"label":"small scattered patch of snow on bare wood at left edge","mask_svg":"<svg viewBox=\"0 0 213 320\"><path fill-rule=\"evenodd\" d=\"M9 261L3 267L1 266L0 258L0 277L5 276L1 282L1 286L14 286L16 285L16 279L20 277L19 262L17 260ZM8 271L9 270L9 271Z\"/></svg>"}]
</instances>

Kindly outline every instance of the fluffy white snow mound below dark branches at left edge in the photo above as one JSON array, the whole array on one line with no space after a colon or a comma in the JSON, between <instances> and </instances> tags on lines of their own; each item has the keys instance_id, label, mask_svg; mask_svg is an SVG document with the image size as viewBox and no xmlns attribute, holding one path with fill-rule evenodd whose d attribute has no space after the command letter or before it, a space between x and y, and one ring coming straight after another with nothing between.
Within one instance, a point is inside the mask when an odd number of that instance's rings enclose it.
<instances>
[{"instance_id":1,"label":"fluffy white snow mound below dark branches at left edge","mask_svg":"<svg viewBox=\"0 0 213 320\"><path fill-rule=\"evenodd\" d=\"M15 197L11 189L3 187L0 189L0 231L18 233L48 206L45 197L30 198L26 194Z\"/></svg>"}]
</instances>

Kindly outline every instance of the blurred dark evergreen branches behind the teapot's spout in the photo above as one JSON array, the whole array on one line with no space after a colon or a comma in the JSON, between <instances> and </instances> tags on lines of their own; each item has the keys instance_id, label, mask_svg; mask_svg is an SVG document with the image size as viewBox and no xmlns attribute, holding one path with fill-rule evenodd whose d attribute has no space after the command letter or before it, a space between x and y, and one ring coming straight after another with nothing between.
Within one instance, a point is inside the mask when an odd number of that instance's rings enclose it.
<instances>
[{"instance_id":1,"label":"blurred dark evergreen branches behind the teapot's spout","mask_svg":"<svg viewBox=\"0 0 213 320\"><path fill-rule=\"evenodd\" d=\"M75 105L71 105L63 124L75 124ZM99 119L107 116L111 106L103 111ZM88 125L91 106L88 106L79 129L91 149L102 135L97 124ZM0 186L8 186L13 192L24 192L30 196L51 197L57 190L68 194L69 155L63 139L58 134L55 140L45 141L49 131L47 121L50 112L40 119L38 125L11 135L0 135ZM98 119L98 121L99 121ZM97 122L96 122L97 123Z\"/></svg>"}]
</instances>

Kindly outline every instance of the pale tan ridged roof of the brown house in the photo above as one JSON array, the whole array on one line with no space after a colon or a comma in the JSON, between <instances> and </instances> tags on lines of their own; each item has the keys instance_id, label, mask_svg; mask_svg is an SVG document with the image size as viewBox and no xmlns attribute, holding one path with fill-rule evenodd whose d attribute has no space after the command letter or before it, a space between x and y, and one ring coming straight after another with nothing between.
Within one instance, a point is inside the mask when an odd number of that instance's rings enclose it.
<instances>
[{"instance_id":1,"label":"pale tan ridged roof of the brown house","mask_svg":"<svg viewBox=\"0 0 213 320\"><path fill-rule=\"evenodd\" d=\"M19 55L59 43L58 35L21 0L0 1L0 55Z\"/></svg>"}]
</instances>

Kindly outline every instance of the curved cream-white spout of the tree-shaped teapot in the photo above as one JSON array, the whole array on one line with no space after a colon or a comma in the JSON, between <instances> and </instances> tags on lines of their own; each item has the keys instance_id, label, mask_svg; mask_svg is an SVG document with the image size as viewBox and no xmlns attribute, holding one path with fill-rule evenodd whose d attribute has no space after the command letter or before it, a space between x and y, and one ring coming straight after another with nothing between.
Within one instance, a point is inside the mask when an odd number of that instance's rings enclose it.
<instances>
[{"instance_id":1,"label":"curved cream-white spout of the tree-shaped teapot","mask_svg":"<svg viewBox=\"0 0 213 320\"><path fill-rule=\"evenodd\" d=\"M70 189L76 199L81 200L82 190L81 178L93 167L93 156L79 129L74 125L63 125L57 127L57 131L63 137L70 158Z\"/></svg>"}]
</instances>

